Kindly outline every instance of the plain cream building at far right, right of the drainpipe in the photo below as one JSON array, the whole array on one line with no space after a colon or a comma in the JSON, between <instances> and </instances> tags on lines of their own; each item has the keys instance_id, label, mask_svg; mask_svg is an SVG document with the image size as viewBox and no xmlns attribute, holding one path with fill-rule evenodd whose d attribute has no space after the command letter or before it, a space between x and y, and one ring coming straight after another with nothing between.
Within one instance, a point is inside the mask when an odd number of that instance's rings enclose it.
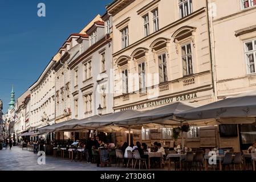
<instances>
[{"instance_id":1,"label":"plain cream building at far right, right of the drainpipe","mask_svg":"<svg viewBox=\"0 0 256 182\"><path fill-rule=\"evenodd\" d=\"M254 0L209 0L214 82L218 100L256 89L255 5ZM241 125L238 133L246 133L253 127ZM256 139L248 134L242 134L241 138L219 138L218 143L220 147L233 146L238 149L241 146L247 149L247 145Z\"/></svg>"}]
</instances>

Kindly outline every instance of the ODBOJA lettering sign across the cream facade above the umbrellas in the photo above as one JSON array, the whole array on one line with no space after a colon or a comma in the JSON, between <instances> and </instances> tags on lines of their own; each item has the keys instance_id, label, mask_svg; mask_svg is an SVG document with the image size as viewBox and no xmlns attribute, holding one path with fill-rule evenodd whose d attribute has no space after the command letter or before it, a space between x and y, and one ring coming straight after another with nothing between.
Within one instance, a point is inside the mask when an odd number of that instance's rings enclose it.
<instances>
[{"instance_id":1,"label":"ODBOJA lettering sign across the cream facade above the umbrellas","mask_svg":"<svg viewBox=\"0 0 256 182\"><path fill-rule=\"evenodd\" d=\"M178 96L178 97L162 98L161 100L157 100L157 101L150 101L150 102L145 102L143 104L127 106L127 107L121 108L120 111L128 110L128 109L132 109L132 110L144 109L144 108L147 108L147 107L172 104L173 102L186 101L186 100L190 100L190 99L193 99L193 98L197 98L196 93L185 94L185 95Z\"/></svg>"}]
</instances>

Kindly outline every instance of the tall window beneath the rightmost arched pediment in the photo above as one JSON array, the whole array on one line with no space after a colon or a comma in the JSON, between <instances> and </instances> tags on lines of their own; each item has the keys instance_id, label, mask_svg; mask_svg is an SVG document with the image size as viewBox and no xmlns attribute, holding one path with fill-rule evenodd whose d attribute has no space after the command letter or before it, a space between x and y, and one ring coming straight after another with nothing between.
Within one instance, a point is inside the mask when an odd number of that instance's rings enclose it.
<instances>
[{"instance_id":1,"label":"tall window beneath the rightmost arched pediment","mask_svg":"<svg viewBox=\"0 0 256 182\"><path fill-rule=\"evenodd\" d=\"M191 44L181 47L183 76L193 74Z\"/></svg>"}]
</instances>

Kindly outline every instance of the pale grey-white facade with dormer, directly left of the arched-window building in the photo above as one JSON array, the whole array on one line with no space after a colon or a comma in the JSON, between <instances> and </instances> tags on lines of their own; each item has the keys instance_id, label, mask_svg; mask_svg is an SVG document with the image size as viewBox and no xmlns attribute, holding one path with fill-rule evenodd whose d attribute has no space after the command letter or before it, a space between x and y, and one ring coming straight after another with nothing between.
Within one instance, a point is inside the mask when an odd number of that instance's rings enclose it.
<instances>
[{"instance_id":1,"label":"pale grey-white facade with dormer, directly left of the arched-window building","mask_svg":"<svg viewBox=\"0 0 256 182\"><path fill-rule=\"evenodd\" d=\"M105 15L107 20L108 15ZM112 42L110 32L105 32L103 20L95 21L77 41L81 54L68 63L71 70L71 113L72 118L83 119L112 113L113 97L111 90Z\"/></svg>"}]
</instances>

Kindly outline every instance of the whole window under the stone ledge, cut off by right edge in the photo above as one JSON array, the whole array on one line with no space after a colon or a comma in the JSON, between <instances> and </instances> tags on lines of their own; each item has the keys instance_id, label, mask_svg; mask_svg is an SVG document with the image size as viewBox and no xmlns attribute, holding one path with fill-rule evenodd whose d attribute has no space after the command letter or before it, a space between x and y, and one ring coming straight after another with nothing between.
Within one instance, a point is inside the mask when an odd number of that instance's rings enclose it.
<instances>
[{"instance_id":1,"label":"whole window under the stone ledge, cut off by right edge","mask_svg":"<svg viewBox=\"0 0 256 182\"><path fill-rule=\"evenodd\" d=\"M245 58L247 73L255 73L256 40L245 43Z\"/></svg>"}]
</instances>

